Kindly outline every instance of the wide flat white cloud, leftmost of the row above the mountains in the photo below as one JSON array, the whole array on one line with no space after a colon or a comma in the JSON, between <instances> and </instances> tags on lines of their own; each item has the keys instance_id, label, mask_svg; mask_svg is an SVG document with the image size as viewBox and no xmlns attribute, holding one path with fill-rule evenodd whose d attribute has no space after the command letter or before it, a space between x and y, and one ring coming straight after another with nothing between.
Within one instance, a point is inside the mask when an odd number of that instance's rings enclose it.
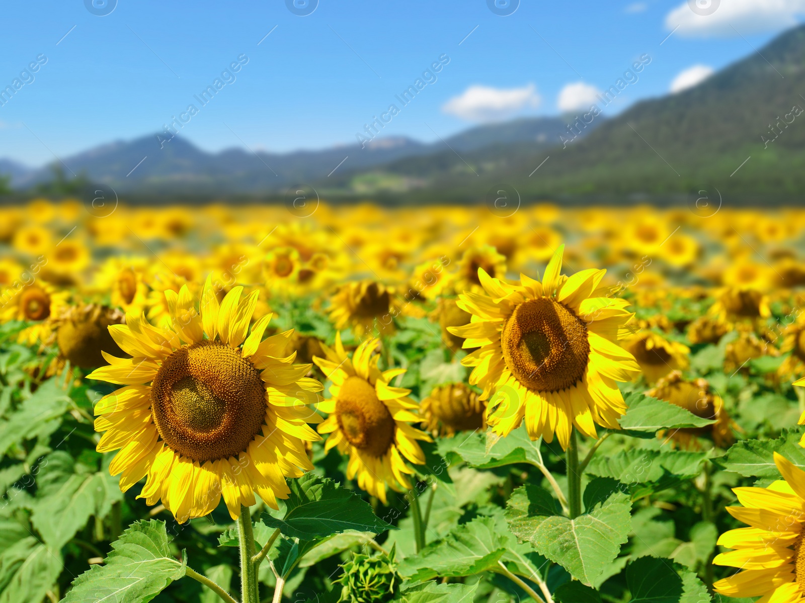
<instances>
[{"instance_id":1,"label":"wide flat white cloud, leftmost of the row above the mountains","mask_svg":"<svg viewBox=\"0 0 805 603\"><path fill-rule=\"evenodd\" d=\"M542 99L533 84L508 89L472 85L464 93L444 103L442 110L471 122L494 122L522 109L538 107L540 101Z\"/></svg>"}]
</instances>

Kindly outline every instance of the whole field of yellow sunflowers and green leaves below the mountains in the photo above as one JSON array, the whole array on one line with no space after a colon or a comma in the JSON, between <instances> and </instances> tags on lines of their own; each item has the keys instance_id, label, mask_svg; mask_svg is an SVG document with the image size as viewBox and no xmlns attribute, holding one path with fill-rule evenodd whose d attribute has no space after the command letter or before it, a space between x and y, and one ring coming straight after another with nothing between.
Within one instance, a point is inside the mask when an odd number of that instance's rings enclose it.
<instances>
[{"instance_id":1,"label":"whole field of yellow sunflowers and green leaves below the mountains","mask_svg":"<svg viewBox=\"0 0 805 603\"><path fill-rule=\"evenodd\" d=\"M805 601L803 304L795 209L0 207L0 603Z\"/></svg>"}]
</instances>

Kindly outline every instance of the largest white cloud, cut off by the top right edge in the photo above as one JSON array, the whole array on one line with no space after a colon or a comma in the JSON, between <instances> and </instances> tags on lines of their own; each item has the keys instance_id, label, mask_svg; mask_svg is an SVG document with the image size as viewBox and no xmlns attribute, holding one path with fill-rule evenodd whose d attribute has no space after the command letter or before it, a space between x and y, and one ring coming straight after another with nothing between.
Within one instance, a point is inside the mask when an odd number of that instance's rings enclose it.
<instances>
[{"instance_id":1,"label":"largest white cloud, cut off by the top right edge","mask_svg":"<svg viewBox=\"0 0 805 603\"><path fill-rule=\"evenodd\" d=\"M667 14L665 27L689 37L737 37L792 27L803 14L805 0L690 0Z\"/></svg>"}]
</instances>

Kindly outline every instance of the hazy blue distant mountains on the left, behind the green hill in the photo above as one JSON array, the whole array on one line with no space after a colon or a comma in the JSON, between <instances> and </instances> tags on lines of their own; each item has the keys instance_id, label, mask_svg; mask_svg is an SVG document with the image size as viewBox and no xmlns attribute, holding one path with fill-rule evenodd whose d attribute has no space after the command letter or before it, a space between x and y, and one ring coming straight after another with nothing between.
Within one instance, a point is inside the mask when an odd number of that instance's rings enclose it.
<instances>
[{"instance_id":1,"label":"hazy blue distant mountains on the left, behind the green hill","mask_svg":"<svg viewBox=\"0 0 805 603\"><path fill-rule=\"evenodd\" d=\"M558 118L519 119L474 127L432 144L402 137L377 138L365 148L356 143L291 153L233 148L213 154L179 136L170 142L160 142L156 135L151 135L112 142L62 159L76 175L110 184L118 192L188 196L265 193L282 191L293 184L326 180L336 167L336 174L361 171L451 147L459 152L471 152L496 143L527 141L545 145L554 142L564 127L564 122ZM52 178L50 166L19 171L10 162L8 168L4 165L6 163L0 163L0 174L17 170L14 184L18 187L30 187ZM68 172L67 176L72 174Z\"/></svg>"}]
</instances>

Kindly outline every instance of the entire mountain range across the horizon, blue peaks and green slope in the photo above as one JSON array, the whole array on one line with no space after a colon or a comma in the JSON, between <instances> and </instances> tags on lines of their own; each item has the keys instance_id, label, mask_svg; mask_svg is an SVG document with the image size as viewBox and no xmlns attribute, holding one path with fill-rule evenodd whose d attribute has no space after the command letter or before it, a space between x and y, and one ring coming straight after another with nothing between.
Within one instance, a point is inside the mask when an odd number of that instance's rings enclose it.
<instances>
[{"instance_id":1,"label":"entire mountain range across the horizon, blue peaks and green slope","mask_svg":"<svg viewBox=\"0 0 805 603\"><path fill-rule=\"evenodd\" d=\"M312 184L330 200L478 202L503 183L526 199L679 198L716 189L736 202L800 203L805 194L805 26L691 89L599 115L568 135L582 114L477 126L425 144L377 138L286 154L201 151L156 135L63 158L76 174L130 197L272 198ZM586 118L585 118L586 119ZM0 160L15 188L52 177Z\"/></svg>"}]
</instances>

